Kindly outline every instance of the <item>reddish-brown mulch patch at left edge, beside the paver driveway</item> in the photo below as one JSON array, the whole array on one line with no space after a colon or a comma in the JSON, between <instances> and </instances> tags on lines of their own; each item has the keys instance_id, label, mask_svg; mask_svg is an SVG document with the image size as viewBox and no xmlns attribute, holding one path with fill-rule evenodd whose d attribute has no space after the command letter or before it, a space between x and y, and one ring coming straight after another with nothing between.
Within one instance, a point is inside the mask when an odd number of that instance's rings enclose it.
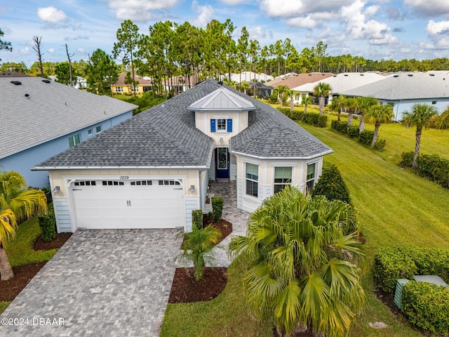
<instances>
[{"instance_id":1,"label":"reddish-brown mulch patch at left edge, beside the paver driveway","mask_svg":"<svg viewBox=\"0 0 449 337\"><path fill-rule=\"evenodd\" d=\"M45 264L46 262L39 262L13 267L14 277L8 281L0 281L0 300L13 300Z\"/></svg>"}]
</instances>

